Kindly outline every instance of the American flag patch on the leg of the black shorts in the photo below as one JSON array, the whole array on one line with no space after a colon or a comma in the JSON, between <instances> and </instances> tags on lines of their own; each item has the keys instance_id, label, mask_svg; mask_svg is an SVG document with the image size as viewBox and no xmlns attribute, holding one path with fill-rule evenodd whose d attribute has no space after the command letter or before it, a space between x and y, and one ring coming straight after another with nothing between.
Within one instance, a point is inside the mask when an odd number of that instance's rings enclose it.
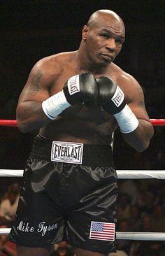
<instances>
[{"instance_id":1,"label":"American flag patch on the leg of the black shorts","mask_svg":"<svg viewBox=\"0 0 165 256\"><path fill-rule=\"evenodd\" d=\"M89 239L115 241L115 223L92 221Z\"/></svg>"}]
</instances>

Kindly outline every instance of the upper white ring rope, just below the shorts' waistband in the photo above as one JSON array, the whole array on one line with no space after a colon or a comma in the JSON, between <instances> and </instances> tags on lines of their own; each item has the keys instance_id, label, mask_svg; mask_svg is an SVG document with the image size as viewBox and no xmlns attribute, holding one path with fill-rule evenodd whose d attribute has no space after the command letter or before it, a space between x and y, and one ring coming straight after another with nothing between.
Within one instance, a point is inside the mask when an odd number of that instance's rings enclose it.
<instances>
[{"instance_id":1,"label":"upper white ring rope, just below the shorts' waistband","mask_svg":"<svg viewBox=\"0 0 165 256\"><path fill-rule=\"evenodd\" d=\"M22 177L23 170L0 169L0 177ZM117 178L157 178L165 180L165 170L117 170Z\"/></svg>"}]
</instances>

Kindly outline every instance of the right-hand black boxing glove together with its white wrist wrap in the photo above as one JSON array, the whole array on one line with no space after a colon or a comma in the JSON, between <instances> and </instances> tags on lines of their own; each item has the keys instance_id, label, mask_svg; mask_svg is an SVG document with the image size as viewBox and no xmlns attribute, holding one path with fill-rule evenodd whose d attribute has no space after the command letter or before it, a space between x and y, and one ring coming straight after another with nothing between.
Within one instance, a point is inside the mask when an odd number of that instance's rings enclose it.
<instances>
[{"instance_id":1,"label":"right-hand black boxing glove together with its white wrist wrap","mask_svg":"<svg viewBox=\"0 0 165 256\"><path fill-rule=\"evenodd\" d=\"M127 134L138 127L138 119L126 104L124 92L115 82L103 76L98 83L98 104L103 110L114 115L122 133Z\"/></svg>"}]
</instances>

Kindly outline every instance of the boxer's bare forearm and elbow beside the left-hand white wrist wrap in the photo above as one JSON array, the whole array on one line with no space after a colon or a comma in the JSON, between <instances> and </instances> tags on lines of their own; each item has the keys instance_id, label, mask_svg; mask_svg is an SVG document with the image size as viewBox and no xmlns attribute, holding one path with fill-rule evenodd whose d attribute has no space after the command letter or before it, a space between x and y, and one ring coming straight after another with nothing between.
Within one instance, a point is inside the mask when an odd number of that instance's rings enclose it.
<instances>
[{"instance_id":1,"label":"boxer's bare forearm and elbow beside the left-hand white wrist wrap","mask_svg":"<svg viewBox=\"0 0 165 256\"><path fill-rule=\"evenodd\" d=\"M22 132L40 129L50 121L40 101L24 101L17 106L17 127Z\"/></svg>"}]
</instances>

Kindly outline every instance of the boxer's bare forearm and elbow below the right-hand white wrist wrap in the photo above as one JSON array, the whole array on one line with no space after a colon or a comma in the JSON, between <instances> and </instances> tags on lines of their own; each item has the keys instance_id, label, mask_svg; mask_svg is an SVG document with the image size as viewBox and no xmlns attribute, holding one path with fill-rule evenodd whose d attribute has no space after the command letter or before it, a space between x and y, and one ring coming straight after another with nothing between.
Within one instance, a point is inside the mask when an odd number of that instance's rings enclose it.
<instances>
[{"instance_id":1,"label":"boxer's bare forearm and elbow below the right-hand white wrist wrap","mask_svg":"<svg viewBox=\"0 0 165 256\"><path fill-rule=\"evenodd\" d=\"M141 119L138 119L138 121L138 127L130 133L122 133L122 137L131 147L142 152L148 148L150 139L154 134L154 129L150 122Z\"/></svg>"}]
</instances>

